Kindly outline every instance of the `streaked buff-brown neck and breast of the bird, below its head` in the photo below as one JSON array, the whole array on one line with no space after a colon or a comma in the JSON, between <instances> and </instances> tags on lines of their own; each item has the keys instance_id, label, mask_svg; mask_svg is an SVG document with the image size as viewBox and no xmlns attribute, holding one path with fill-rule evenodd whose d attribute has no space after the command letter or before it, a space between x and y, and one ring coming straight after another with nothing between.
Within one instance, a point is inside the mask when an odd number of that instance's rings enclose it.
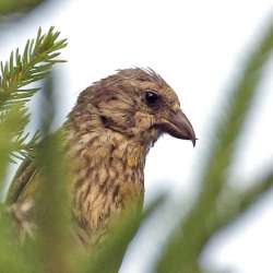
<instances>
[{"instance_id":1,"label":"streaked buff-brown neck and breast of the bird, below its head","mask_svg":"<svg viewBox=\"0 0 273 273\"><path fill-rule=\"evenodd\" d=\"M143 201L147 145L108 129L70 129L67 142L73 214L85 233L102 229L128 201Z\"/></svg>"}]
</instances>

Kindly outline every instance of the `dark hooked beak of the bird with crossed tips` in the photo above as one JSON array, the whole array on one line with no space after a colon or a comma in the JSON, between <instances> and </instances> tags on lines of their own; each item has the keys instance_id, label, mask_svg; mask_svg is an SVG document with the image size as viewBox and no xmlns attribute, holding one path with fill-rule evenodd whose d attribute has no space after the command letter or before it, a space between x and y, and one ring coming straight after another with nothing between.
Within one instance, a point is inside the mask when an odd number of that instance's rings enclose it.
<instances>
[{"instance_id":1,"label":"dark hooked beak of the bird with crossed tips","mask_svg":"<svg viewBox=\"0 0 273 273\"><path fill-rule=\"evenodd\" d=\"M193 146L195 146L195 133L189 119L181 110L170 112L167 118L162 119L157 123L157 127L174 138L191 140Z\"/></svg>"}]
</instances>

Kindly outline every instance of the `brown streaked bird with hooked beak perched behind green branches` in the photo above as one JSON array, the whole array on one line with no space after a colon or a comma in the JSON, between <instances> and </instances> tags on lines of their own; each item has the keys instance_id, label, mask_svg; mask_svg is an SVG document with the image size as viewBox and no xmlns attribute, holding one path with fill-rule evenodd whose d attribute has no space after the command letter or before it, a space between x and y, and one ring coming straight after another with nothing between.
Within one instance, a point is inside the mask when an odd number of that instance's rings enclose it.
<instances>
[{"instance_id":1,"label":"brown streaked bird with hooked beak perched behind green branches","mask_svg":"<svg viewBox=\"0 0 273 273\"><path fill-rule=\"evenodd\" d=\"M71 164L71 218L84 245L97 244L111 218L130 200L144 199L144 166L161 135L190 140L194 130L179 98L154 70L116 71L80 93L62 124L66 156ZM27 159L14 176L8 194L16 223L27 232L35 210L39 170ZM34 185L36 185L34 187Z\"/></svg>"}]
</instances>

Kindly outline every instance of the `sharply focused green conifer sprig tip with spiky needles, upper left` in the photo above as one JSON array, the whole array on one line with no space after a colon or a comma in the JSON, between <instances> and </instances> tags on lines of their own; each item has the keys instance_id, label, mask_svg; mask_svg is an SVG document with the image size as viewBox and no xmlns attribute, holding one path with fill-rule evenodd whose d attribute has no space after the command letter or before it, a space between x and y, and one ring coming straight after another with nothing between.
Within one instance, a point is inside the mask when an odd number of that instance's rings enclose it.
<instances>
[{"instance_id":1,"label":"sharply focused green conifer sprig tip with spiky needles, upper left","mask_svg":"<svg viewBox=\"0 0 273 273\"><path fill-rule=\"evenodd\" d=\"M23 54L11 52L10 60L0 62L0 109L11 104L26 103L39 90L29 87L31 83L46 78L57 62L59 50L67 46L66 39L58 39L60 32L50 27L47 34L38 29L35 39L28 39Z\"/></svg>"}]
</instances>

